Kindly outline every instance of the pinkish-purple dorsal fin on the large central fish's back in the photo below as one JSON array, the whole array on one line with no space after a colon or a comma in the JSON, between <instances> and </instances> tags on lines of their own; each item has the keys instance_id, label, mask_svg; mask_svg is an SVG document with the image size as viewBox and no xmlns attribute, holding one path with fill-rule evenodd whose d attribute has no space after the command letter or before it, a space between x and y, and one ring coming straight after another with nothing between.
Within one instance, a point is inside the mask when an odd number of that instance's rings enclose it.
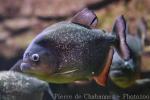
<instances>
[{"instance_id":1,"label":"pinkish-purple dorsal fin on the large central fish's back","mask_svg":"<svg viewBox=\"0 0 150 100\"><path fill-rule=\"evenodd\" d=\"M83 25L88 28L95 28L98 23L98 19L96 14L93 11L85 8L79 13L77 13L71 19L71 22L79 25Z\"/></svg>"}]
</instances>

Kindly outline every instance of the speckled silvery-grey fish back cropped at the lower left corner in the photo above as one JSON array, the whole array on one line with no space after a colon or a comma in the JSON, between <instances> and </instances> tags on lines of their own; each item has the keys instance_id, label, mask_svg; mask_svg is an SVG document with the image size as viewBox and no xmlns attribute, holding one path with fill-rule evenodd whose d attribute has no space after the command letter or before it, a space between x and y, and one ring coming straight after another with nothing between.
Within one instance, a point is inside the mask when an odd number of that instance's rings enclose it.
<instances>
[{"instance_id":1,"label":"speckled silvery-grey fish back cropped at the lower left corner","mask_svg":"<svg viewBox=\"0 0 150 100\"><path fill-rule=\"evenodd\" d=\"M0 100L42 100L48 89L48 83L37 78L13 71L0 72Z\"/></svg>"}]
</instances>

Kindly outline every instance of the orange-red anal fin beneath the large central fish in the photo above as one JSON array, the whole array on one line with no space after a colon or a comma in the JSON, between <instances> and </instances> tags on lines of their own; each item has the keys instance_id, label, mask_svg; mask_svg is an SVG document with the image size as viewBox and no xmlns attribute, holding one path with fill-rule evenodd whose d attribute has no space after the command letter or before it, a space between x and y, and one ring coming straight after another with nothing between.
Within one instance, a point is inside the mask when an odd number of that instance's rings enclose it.
<instances>
[{"instance_id":1,"label":"orange-red anal fin beneath the large central fish","mask_svg":"<svg viewBox=\"0 0 150 100\"><path fill-rule=\"evenodd\" d=\"M108 74L112 63L113 53L114 53L113 49L110 49L103 71L98 76L94 76L94 80L96 81L96 83L101 86L105 86L107 83Z\"/></svg>"}]
</instances>

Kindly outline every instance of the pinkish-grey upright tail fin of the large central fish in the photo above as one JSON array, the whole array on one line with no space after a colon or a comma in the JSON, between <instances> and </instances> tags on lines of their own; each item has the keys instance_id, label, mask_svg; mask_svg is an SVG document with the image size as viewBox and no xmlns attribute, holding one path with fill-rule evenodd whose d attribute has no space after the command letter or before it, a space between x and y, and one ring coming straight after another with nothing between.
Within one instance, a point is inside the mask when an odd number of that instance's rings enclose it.
<instances>
[{"instance_id":1,"label":"pinkish-grey upright tail fin of the large central fish","mask_svg":"<svg viewBox=\"0 0 150 100\"><path fill-rule=\"evenodd\" d=\"M115 45L116 50L124 60L129 60L130 51L126 42L126 29L127 27L126 27L126 21L124 16L121 15L117 17L113 27L113 33L115 33L118 38L118 42Z\"/></svg>"}]
</instances>

